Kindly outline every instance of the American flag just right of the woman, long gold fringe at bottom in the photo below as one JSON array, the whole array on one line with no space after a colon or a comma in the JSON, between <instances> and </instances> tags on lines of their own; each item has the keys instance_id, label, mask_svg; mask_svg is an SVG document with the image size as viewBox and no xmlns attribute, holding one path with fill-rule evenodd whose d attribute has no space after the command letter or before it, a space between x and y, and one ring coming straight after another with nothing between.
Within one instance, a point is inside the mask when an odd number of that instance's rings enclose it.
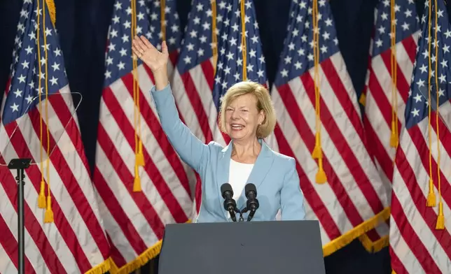
<instances>
[{"instance_id":1,"label":"American flag just right of the woman, long gold fringe at bottom","mask_svg":"<svg viewBox=\"0 0 451 274\"><path fill-rule=\"evenodd\" d=\"M278 121L275 138L279 152L297 159L306 218L319 220L323 252L328 255L388 219L388 193L368 154L356 92L338 48L328 2L293 0L289 16L272 87ZM318 74L314 73L316 47ZM319 75L319 95L315 75ZM316 96L322 163L312 157L318 132ZM319 173L321 166L326 183ZM369 234L377 240L384 231Z\"/></svg>"}]
</instances>

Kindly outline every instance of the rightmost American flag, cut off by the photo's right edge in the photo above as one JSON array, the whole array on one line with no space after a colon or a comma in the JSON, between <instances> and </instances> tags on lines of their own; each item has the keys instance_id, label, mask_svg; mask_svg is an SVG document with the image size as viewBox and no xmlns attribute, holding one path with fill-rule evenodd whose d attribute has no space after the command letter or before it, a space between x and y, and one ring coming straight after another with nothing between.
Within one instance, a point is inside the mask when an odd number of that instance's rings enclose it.
<instances>
[{"instance_id":1,"label":"rightmost American flag, cut off by the photo's right edge","mask_svg":"<svg viewBox=\"0 0 451 274\"><path fill-rule=\"evenodd\" d=\"M391 267L398 274L451 273L451 25L444 1L426 1L421 23L391 194Z\"/></svg>"}]
</instances>

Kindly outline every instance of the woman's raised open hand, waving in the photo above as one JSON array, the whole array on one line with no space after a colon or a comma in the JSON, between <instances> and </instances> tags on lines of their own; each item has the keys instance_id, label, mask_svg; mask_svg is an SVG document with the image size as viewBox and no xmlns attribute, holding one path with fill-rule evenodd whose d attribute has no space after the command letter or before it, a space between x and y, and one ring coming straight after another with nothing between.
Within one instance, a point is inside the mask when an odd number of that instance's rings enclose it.
<instances>
[{"instance_id":1,"label":"woman's raised open hand, waving","mask_svg":"<svg viewBox=\"0 0 451 274\"><path fill-rule=\"evenodd\" d=\"M144 62L144 64L151 68L153 73L167 70L169 52L165 41L162 42L160 52L146 39L146 37L134 36L132 41L132 51L134 55Z\"/></svg>"}]
</instances>

